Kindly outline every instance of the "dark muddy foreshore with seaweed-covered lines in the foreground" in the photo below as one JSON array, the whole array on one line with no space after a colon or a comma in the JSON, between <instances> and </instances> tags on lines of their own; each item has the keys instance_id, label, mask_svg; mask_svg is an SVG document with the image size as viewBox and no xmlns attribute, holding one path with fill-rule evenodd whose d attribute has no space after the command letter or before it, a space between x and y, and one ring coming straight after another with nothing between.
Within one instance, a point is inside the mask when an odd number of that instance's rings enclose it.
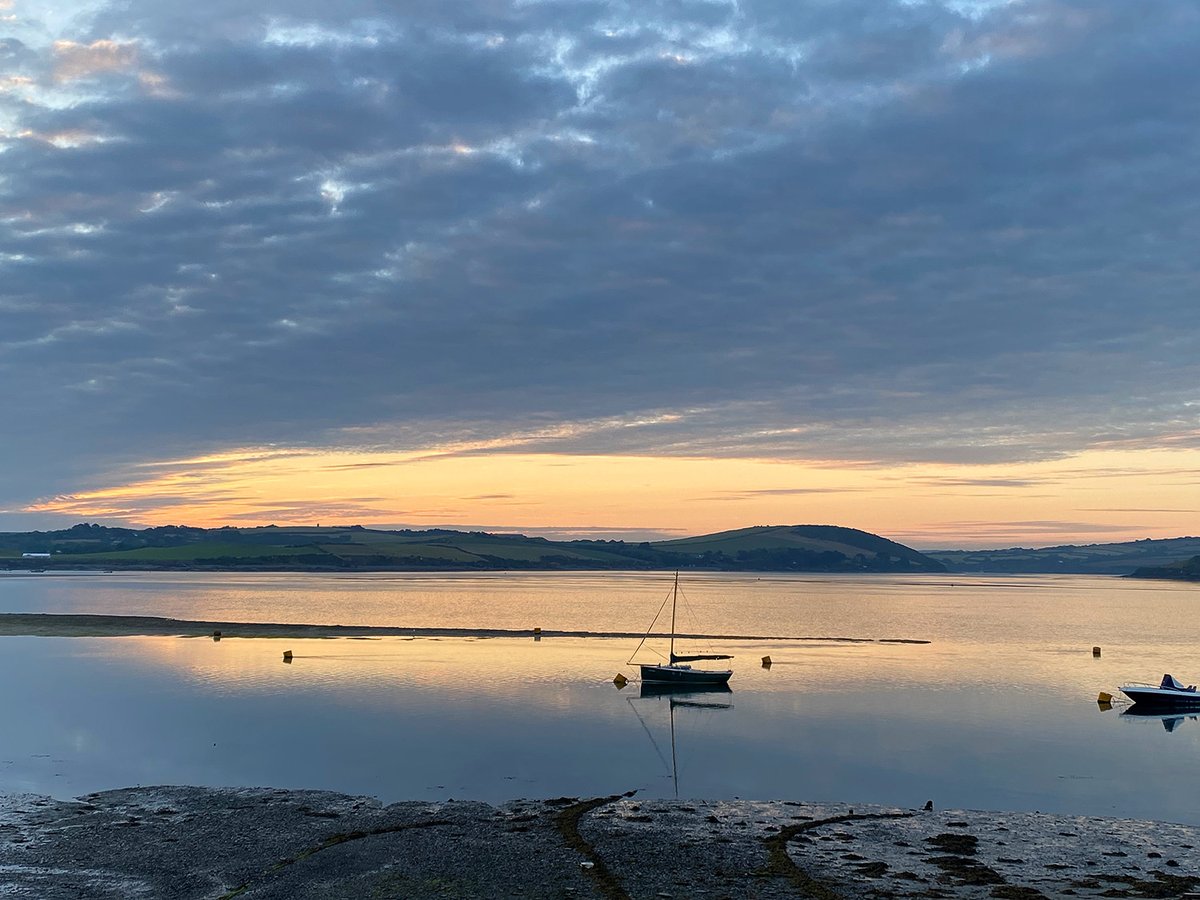
<instances>
[{"instance_id":1,"label":"dark muddy foreshore with seaweed-covered lines in the foreground","mask_svg":"<svg viewBox=\"0 0 1200 900\"><path fill-rule=\"evenodd\" d=\"M40 900L1200 898L1198 847L1190 826L792 802L0 798L0 896Z\"/></svg>"}]
</instances>

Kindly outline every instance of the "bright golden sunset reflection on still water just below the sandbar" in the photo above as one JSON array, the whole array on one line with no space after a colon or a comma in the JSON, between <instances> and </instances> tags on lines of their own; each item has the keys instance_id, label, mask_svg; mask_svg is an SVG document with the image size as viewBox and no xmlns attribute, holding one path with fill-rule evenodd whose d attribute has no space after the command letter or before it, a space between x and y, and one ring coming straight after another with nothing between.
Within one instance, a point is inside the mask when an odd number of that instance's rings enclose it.
<instances>
[{"instance_id":1,"label":"bright golden sunset reflection on still water just below the sandbar","mask_svg":"<svg viewBox=\"0 0 1200 900\"><path fill-rule=\"evenodd\" d=\"M511 695L564 684L599 684L625 666L631 649L619 638L209 638L119 637L74 638L80 650L150 670L169 668L173 677L206 683L227 692L319 686L336 695L371 690L451 692L456 696ZM734 686L787 695L797 691L829 696L872 694L888 702L922 703L935 696L974 692L1036 701L1048 695L1094 690L1127 679L1130 661L1111 655L1096 659L1091 648L997 647L990 643L845 643L730 642ZM290 665L283 650L294 654ZM773 665L760 664L770 655ZM1169 659L1170 652L1162 652ZM1152 671L1163 660L1139 664ZM895 696L893 696L895 695Z\"/></svg>"}]
</instances>

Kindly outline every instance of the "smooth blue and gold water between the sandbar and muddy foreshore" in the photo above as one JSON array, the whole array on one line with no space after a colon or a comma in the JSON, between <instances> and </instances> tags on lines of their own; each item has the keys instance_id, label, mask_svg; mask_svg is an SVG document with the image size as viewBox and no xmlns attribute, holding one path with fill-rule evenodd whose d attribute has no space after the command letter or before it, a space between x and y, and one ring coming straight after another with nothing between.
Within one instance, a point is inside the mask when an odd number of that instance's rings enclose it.
<instances>
[{"instance_id":1,"label":"smooth blue and gold water between the sandbar and muddy foreshore","mask_svg":"<svg viewBox=\"0 0 1200 900\"><path fill-rule=\"evenodd\" d=\"M13 724L2 739L14 760L0 770L7 790L277 785L493 800L673 792L629 698L649 704L642 712L660 743L670 739L670 707L608 682L628 658L622 641L5 638L4 647L0 677L36 685L0 696ZM295 654L290 666L283 649ZM1097 671L1090 655L1034 694L984 690L1018 678L1015 652L967 659L949 646L787 646L772 648L786 665L763 670L757 647L732 649L731 707L676 709L682 794L898 805L932 797L938 806L1194 817L1178 784L1194 740L1115 728L1115 716L1097 715L1094 695L1075 696ZM958 658L961 678L930 667L932 654L950 668ZM1110 773L1147 751L1159 766L1138 785L1114 784ZM64 763L54 769L35 754Z\"/></svg>"}]
</instances>

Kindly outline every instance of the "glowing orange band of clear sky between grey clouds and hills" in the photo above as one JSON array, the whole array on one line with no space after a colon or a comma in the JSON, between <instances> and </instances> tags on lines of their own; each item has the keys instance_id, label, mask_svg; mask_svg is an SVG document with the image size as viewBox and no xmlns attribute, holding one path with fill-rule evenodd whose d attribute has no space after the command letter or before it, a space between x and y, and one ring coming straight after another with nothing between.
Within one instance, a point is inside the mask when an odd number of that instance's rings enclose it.
<instances>
[{"instance_id":1,"label":"glowing orange band of clear sky between grey clouds and hills","mask_svg":"<svg viewBox=\"0 0 1200 900\"><path fill-rule=\"evenodd\" d=\"M1091 450L991 466L251 448L139 466L29 512L140 526L407 524L674 534L844 524L924 548L1188 533L1200 450ZM1195 530L1192 528L1192 530Z\"/></svg>"}]
</instances>

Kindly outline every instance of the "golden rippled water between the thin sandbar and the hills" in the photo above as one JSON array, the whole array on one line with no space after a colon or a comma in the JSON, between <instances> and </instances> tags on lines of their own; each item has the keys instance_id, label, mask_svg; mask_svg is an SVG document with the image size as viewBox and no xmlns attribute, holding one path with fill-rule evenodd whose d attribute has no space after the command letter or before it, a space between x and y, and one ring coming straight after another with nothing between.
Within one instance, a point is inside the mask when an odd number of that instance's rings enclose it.
<instances>
[{"instance_id":1,"label":"golden rippled water between the thin sandbar and the hills","mask_svg":"<svg viewBox=\"0 0 1200 900\"><path fill-rule=\"evenodd\" d=\"M0 608L13 612L419 628L536 625L635 634L646 628L668 590L661 574L641 572L145 572L6 580L0 587ZM1138 661L1157 667L1159 650L1189 654L1200 643L1200 619L1178 614L1181 589L1186 586L1148 588L1129 580L1080 576L982 580L697 572L686 576L684 593L703 623L695 630L706 632L977 644L964 654L967 660L972 654L1006 655L1013 647L1070 653L1103 644L1127 652L1138 648ZM1134 606L1138 614L1130 616ZM751 658L770 652L755 647ZM934 667L941 658L935 652L925 659ZM1176 658L1174 667L1178 666ZM1044 661L1037 667L1048 674L1054 668ZM1026 671L1022 667L1018 676ZM943 674L953 677L944 668ZM1145 677L1124 671L1116 680Z\"/></svg>"}]
</instances>

